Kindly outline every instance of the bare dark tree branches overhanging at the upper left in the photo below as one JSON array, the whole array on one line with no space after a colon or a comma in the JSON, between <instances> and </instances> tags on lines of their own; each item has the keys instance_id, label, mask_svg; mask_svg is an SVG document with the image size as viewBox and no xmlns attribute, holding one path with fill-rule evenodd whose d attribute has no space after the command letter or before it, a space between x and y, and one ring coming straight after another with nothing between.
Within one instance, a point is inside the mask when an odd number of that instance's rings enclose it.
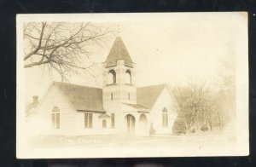
<instances>
[{"instance_id":1,"label":"bare dark tree branches overhanging at the upper left","mask_svg":"<svg viewBox=\"0 0 256 167\"><path fill-rule=\"evenodd\" d=\"M91 49L102 46L113 35L109 27L90 22L28 22L24 25L24 67L46 66L66 78L94 66Z\"/></svg>"}]
</instances>

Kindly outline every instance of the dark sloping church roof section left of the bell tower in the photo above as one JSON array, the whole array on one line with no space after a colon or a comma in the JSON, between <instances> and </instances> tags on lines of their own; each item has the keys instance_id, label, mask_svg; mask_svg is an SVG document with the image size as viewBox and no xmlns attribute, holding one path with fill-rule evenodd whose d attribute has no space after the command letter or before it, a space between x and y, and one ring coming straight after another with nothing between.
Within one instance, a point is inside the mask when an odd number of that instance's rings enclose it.
<instances>
[{"instance_id":1,"label":"dark sloping church roof section left of the bell tower","mask_svg":"<svg viewBox=\"0 0 256 167\"><path fill-rule=\"evenodd\" d=\"M78 111L106 112L102 103L102 89L71 83L54 83Z\"/></svg>"}]
</instances>

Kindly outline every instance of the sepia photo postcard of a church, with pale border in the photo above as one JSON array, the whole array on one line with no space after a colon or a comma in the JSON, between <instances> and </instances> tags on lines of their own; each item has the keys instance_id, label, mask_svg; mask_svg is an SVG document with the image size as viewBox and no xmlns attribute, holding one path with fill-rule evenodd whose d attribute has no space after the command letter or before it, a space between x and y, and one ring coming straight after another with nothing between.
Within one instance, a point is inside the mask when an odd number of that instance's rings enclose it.
<instances>
[{"instance_id":1,"label":"sepia photo postcard of a church, with pale border","mask_svg":"<svg viewBox=\"0 0 256 167\"><path fill-rule=\"evenodd\" d=\"M17 14L17 158L248 155L247 24Z\"/></svg>"}]
</instances>

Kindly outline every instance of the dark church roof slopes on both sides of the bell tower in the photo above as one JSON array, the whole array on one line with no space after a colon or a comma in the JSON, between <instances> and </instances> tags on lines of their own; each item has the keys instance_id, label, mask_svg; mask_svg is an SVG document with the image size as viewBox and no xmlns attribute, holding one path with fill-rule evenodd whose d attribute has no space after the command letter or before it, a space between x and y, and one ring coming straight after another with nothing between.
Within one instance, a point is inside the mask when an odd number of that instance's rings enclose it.
<instances>
[{"instance_id":1,"label":"dark church roof slopes on both sides of the bell tower","mask_svg":"<svg viewBox=\"0 0 256 167\"><path fill-rule=\"evenodd\" d=\"M77 111L106 112L103 108L102 89L71 83L54 82L53 84L61 90L63 95L67 96L67 99L73 104L73 107L75 107ZM137 88L137 104L124 103L124 105L135 107L141 111L150 110L154 107L154 103L158 100L161 92L165 88L170 95L172 95L171 89L167 84ZM172 96L172 98L174 97ZM106 116L107 115L102 115L102 117Z\"/></svg>"}]
</instances>

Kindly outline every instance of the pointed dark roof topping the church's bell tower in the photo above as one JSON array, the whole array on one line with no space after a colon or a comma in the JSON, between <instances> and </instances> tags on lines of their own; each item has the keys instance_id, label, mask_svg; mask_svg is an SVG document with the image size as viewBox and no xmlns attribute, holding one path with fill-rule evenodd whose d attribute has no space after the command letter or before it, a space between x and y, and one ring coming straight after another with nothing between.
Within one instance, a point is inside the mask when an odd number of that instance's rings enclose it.
<instances>
[{"instance_id":1,"label":"pointed dark roof topping the church's bell tower","mask_svg":"<svg viewBox=\"0 0 256 167\"><path fill-rule=\"evenodd\" d=\"M107 63L106 67L116 66L117 60L125 60L125 66L133 67L131 56L129 55L121 37L115 38L113 46L108 54L108 58L105 61Z\"/></svg>"}]
</instances>

